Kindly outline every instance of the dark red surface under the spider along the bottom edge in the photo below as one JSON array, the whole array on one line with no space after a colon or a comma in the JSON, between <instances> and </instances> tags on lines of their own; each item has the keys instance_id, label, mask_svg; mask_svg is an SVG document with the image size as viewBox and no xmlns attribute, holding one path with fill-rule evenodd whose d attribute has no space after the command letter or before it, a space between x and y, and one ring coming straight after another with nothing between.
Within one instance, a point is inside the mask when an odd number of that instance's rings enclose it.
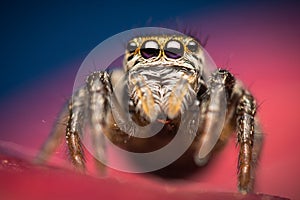
<instances>
[{"instance_id":1,"label":"dark red surface under the spider along the bottom edge","mask_svg":"<svg viewBox=\"0 0 300 200\"><path fill-rule=\"evenodd\" d=\"M207 192L142 178L95 178L3 155L0 177L1 199L281 199L263 194Z\"/></svg>"}]
</instances>

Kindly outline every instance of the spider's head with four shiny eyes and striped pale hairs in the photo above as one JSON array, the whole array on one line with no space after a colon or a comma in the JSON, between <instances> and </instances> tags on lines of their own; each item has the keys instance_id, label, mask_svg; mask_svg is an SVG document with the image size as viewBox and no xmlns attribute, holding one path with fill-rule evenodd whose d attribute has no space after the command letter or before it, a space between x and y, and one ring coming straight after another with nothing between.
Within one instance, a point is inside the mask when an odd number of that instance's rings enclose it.
<instances>
[{"instance_id":1,"label":"spider's head with four shiny eyes and striped pale hairs","mask_svg":"<svg viewBox=\"0 0 300 200\"><path fill-rule=\"evenodd\" d=\"M147 121L174 119L194 104L203 49L192 37L158 35L129 41L124 58L131 110Z\"/></svg>"}]
</instances>

